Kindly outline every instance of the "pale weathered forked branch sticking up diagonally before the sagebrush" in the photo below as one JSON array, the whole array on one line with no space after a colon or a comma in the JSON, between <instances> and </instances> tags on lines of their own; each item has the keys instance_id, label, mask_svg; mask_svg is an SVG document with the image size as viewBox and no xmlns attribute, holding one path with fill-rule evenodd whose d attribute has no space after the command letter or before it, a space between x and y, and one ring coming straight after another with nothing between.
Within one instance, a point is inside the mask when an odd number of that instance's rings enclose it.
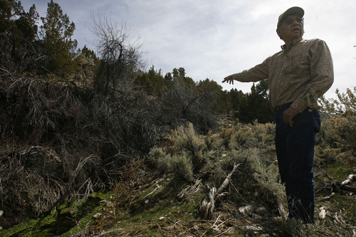
<instances>
[{"instance_id":1,"label":"pale weathered forked branch sticking up diagonally before the sagebrush","mask_svg":"<svg viewBox=\"0 0 356 237\"><path fill-rule=\"evenodd\" d=\"M229 184L229 180L231 179L232 174L234 174L234 172L236 171L237 167L239 167L239 165L240 164L234 164L234 168L232 169L230 174L226 177L226 179L223 181L219 189L216 189L215 187L212 187L210 189L208 197L201 202L201 206L200 206L201 218L209 219L209 220L211 219L214 213L216 200L221 196L221 192Z\"/></svg>"}]
</instances>

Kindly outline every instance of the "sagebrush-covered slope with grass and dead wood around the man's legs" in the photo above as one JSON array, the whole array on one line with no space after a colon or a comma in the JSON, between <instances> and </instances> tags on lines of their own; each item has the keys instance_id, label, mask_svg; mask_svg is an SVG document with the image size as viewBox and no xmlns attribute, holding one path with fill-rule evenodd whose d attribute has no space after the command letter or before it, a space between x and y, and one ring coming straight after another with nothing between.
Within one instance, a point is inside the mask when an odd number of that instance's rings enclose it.
<instances>
[{"instance_id":1,"label":"sagebrush-covered slope with grass and dead wood around the man's legs","mask_svg":"<svg viewBox=\"0 0 356 237\"><path fill-rule=\"evenodd\" d=\"M315 226L286 221L283 186L273 146L273 124L222 122L199 135L192 124L167 134L145 159L132 159L108 192L72 199L2 236L352 236L355 167L325 152L326 130L315 154ZM226 122L229 121L229 122ZM328 123L325 122L326 128ZM325 145L325 144L324 144ZM338 152L338 153L336 153ZM333 160L332 160L333 159ZM224 180L229 182L224 186ZM218 191L206 215L202 203ZM80 196L77 196L77 198ZM75 201L76 200L76 201ZM202 212L203 211L203 212Z\"/></svg>"}]
</instances>

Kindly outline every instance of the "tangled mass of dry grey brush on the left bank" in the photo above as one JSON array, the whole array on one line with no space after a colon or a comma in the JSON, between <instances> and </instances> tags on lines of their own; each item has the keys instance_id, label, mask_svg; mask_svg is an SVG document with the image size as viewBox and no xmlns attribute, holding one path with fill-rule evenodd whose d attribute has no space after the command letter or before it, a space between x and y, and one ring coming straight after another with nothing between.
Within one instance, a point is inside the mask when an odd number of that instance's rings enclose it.
<instances>
[{"instance_id":1,"label":"tangled mass of dry grey brush on the left bank","mask_svg":"<svg viewBox=\"0 0 356 237\"><path fill-rule=\"evenodd\" d=\"M153 109L157 102L140 90L109 97L64 81L11 73L0 79L5 228L117 183L125 164L169 130Z\"/></svg>"}]
</instances>

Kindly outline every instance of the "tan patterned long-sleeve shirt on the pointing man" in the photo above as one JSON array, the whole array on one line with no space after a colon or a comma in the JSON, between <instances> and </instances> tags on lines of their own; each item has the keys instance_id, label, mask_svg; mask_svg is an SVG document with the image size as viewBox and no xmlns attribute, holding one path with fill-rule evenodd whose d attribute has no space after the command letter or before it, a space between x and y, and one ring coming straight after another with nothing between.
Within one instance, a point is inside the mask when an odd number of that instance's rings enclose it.
<instances>
[{"instance_id":1,"label":"tan patterned long-sleeve shirt on the pointing man","mask_svg":"<svg viewBox=\"0 0 356 237\"><path fill-rule=\"evenodd\" d=\"M255 67L232 77L241 82L268 79L271 108L292 102L298 112L316 105L334 81L333 59L320 39L299 38Z\"/></svg>"}]
</instances>

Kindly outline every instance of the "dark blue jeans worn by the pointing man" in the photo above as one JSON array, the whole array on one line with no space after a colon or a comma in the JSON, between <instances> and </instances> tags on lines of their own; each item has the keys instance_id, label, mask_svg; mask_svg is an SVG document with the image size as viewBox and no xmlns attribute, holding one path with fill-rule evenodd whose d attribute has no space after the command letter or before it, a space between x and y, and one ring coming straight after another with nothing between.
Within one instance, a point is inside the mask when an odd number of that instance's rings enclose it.
<instances>
[{"instance_id":1,"label":"dark blue jeans worn by the pointing man","mask_svg":"<svg viewBox=\"0 0 356 237\"><path fill-rule=\"evenodd\" d=\"M315 135L320 132L320 113L306 108L293 117L293 127L283 122L290 104L276 109L276 153L281 181L286 184L288 218L314 223L313 157Z\"/></svg>"}]
</instances>

